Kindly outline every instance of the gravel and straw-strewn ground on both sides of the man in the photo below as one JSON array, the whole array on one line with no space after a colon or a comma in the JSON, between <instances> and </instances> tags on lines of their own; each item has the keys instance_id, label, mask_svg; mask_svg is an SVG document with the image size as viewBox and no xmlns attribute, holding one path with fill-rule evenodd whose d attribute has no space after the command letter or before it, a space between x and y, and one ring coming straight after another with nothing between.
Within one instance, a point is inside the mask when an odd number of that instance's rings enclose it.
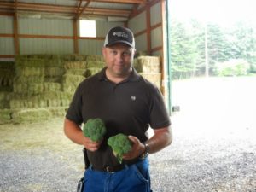
<instances>
[{"instance_id":1,"label":"gravel and straw-strewn ground on both sides of the man","mask_svg":"<svg viewBox=\"0 0 256 192\"><path fill-rule=\"evenodd\" d=\"M154 192L255 192L253 79L173 82L173 143L151 154ZM199 94L200 93L200 94ZM84 172L82 148L63 118L0 125L0 192L71 192Z\"/></svg>"}]
</instances>

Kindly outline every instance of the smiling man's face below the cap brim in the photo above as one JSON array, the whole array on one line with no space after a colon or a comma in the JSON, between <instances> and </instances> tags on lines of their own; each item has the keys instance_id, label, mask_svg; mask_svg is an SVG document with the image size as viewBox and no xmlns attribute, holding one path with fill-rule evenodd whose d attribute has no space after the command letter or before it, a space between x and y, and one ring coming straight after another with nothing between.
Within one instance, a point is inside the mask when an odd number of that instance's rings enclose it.
<instances>
[{"instance_id":1,"label":"smiling man's face below the cap brim","mask_svg":"<svg viewBox=\"0 0 256 192\"><path fill-rule=\"evenodd\" d=\"M114 44L111 47L104 47L104 56L108 74L114 78L125 78L131 73L131 65L135 49L125 44Z\"/></svg>"}]
</instances>

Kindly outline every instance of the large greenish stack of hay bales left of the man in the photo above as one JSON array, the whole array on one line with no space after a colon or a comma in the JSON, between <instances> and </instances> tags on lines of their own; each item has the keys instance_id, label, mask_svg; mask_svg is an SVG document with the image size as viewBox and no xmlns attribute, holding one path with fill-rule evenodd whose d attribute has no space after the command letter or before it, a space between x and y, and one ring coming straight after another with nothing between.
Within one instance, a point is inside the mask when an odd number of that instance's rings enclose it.
<instances>
[{"instance_id":1,"label":"large greenish stack of hay bales left of the man","mask_svg":"<svg viewBox=\"0 0 256 192\"><path fill-rule=\"evenodd\" d=\"M101 55L18 55L0 65L0 125L63 117L79 83L104 66Z\"/></svg>"}]
</instances>

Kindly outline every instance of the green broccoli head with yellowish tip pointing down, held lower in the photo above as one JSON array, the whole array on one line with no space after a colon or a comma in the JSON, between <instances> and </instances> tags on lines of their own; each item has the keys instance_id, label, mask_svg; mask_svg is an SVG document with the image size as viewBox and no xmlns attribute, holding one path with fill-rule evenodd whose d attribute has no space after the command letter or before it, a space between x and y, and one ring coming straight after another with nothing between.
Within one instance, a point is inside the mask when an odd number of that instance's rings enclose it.
<instances>
[{"instance_id":1,"label":"green broccoli head with yellowish tip pointing down, held lower","mask_svg":"<svg viewBox=\"0 0 256 192\"><path fill-rule=\"evenodd\" d=\"M113 137L108 138L108 145L112 148L113 153L116 155L119 163L122 163L123 154L131 151L131 140L123 133L119 133Z\"/></svg>"}]
</instances>

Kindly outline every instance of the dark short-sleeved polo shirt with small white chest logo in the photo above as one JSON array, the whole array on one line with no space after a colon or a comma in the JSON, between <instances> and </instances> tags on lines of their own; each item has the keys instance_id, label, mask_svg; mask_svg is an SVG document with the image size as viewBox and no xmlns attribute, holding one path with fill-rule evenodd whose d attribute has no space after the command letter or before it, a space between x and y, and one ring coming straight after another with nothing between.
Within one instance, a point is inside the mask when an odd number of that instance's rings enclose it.
<instances>
[{"instance_id":1,"label":"dark short-sleeved polo shirt with small white chest logo","mask_svg":"<svg viewBox=\"0 0 256 192\"><path fill-rule=\"evenodd\" d=\"M109 81L106 68L79 84L67 110L67 119L81 125L88 119L101 118L107 135L101 148L88 151L90 163L98 168L119 162L107 144L108 137L120 132L145 142L148 127L158 129L171 124L160 90L133 69L119 84Z\"/></svg>"}]
</instances>

